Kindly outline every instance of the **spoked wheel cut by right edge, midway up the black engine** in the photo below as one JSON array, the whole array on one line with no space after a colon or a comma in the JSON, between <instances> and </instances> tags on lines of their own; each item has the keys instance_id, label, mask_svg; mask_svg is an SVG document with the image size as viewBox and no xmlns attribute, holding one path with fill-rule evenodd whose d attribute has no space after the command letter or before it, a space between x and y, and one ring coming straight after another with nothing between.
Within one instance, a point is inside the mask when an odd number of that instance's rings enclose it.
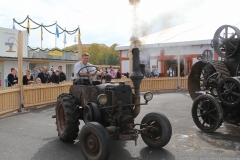
<instances>
[{"instance_id":1,"label":"spoked wheel cut by right edge, midway up the black engine","mask_svg":"<svg viewBox=\"0 0 240 160\"><path fill-rule=\"evenodd\" d=\"M240 80L236 77L224 79L218 87L218 95L221 102L227 107L235 107L240 104Z\"/></svg>"}]
</instances>

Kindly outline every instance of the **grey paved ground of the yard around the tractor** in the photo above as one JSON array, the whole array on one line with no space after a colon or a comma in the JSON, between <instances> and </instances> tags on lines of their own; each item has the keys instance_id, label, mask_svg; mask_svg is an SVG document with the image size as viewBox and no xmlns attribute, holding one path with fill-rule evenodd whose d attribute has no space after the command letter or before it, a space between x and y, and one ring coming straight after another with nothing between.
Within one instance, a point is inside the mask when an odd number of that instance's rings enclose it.
<instances>
[{"instance_id":1,"label":"grey paved ground of the yard around the tractor","mask_svg":"<svg viewBox=\"0 0 240 160\"><path fill-rule=\"evenodd\" d=\"M155 94L142 107L137 122L149 112L165 114L173 128L172 139L163 149L148 148L141 137L134 142L112 141L111 160L240 159L240 128L224 124L205 134L192 121L192 100L187 92ZM32 109L0 118L1 160L84 159L79 141L63 143L57 137L54 106ZM82 127L83 122L81 121Z\"/></svg>"}]
</instances>

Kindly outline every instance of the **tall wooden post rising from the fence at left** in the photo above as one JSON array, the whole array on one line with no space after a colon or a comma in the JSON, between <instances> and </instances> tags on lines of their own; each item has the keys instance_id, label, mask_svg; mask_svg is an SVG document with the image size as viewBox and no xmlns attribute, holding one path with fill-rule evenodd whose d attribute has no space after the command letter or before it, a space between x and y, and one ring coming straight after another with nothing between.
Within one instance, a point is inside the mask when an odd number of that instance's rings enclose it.
<instances>
[{"instance_id":1,"label":"tall wooden post rising from the fence at left","mask_svg":"<svg viewBox=\"0 0 240 160\"><path fill-rule=\"evenodd\" d=\"M23 34L21 31L18 32L18 86L20 88L20 104L22 107L23 103L23 85L22 85L22 55L23 55Z\"/></svg>"}]
</instances>

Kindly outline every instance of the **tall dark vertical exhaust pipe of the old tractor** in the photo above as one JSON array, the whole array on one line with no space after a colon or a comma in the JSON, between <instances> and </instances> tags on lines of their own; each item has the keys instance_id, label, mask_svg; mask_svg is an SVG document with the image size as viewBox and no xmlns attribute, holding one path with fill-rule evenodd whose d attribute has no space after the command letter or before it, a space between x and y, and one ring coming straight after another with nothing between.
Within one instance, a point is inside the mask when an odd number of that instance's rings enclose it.
<instances>
[{"instance_id":1,"label":"tall dark vertical exhaust pipe of the old tractor","mask_svg":"<svg viewBox=\"0 0 240 160\"><path fill-rule=\"evenodd\" d=\"M145 68L145 65L140 65L140 58L139 58L139 49L133 48L132 49L133 54L133 69L132 73L130 75L130 79L132 80L133 86L134 86L134 93L135 93L135 103L140 104L140 84L143 79L143 73L142 71ZM133 110L133 118L136 118L138 114L140 113L140 105L135 105L135 108Z\"/></svg>"}]
</instances>

